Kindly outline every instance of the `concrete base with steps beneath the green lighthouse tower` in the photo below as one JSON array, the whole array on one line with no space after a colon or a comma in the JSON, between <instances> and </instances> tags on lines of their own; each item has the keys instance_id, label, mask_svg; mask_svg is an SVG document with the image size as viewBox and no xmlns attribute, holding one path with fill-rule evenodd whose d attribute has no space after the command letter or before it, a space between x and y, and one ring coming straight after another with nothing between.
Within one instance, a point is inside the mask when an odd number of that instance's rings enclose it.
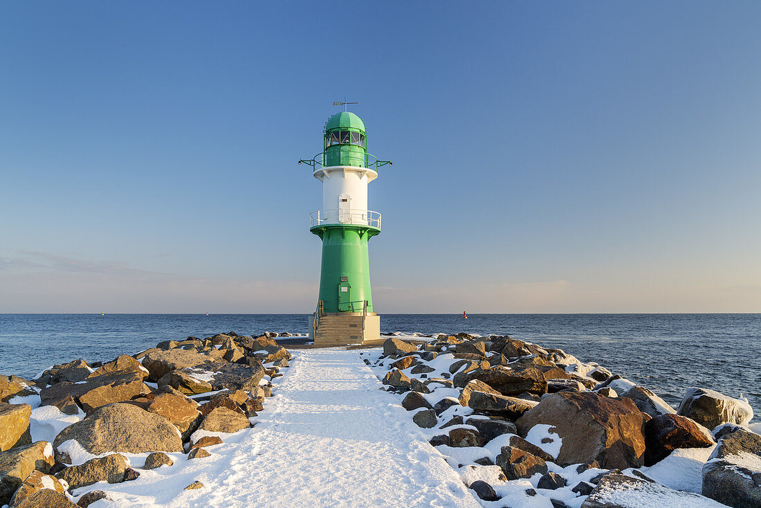
<instances>
[{"instance_id":1,"label":"concrete base with steps beneath the green lighthouse tower","mask_svg":"<svg viewBox=\"0 0 761 508\"><path fill-rule=\"evenodd\" d=\"M317 333L312 337L314 315L309 318L310 339L315 346L345 346L380 340L380 316L368 314L364 323L359 312L323 314L317 321ZM364 326L363 326L364 325Z\"/></svg>"}]
</instances>

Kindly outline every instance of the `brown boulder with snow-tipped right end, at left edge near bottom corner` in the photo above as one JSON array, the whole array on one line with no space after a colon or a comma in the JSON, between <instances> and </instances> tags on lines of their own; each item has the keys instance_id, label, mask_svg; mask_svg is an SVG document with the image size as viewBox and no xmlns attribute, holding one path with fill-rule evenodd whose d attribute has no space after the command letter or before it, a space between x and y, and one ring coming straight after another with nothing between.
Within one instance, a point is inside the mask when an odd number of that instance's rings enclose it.
<instances>
[{"instance_id":1,"label":"brown boulder with snow-tipped right end, at left edge near bottom corner","mask_svg":"<svg viewBox=\"0 0 761 508\"><path fill-rule=\"evenodd\" d=\"M47 473L55 463L53 447L46 441L0 452L0 506L8 503L34 470Z\"/></svg>"}]
</instances>

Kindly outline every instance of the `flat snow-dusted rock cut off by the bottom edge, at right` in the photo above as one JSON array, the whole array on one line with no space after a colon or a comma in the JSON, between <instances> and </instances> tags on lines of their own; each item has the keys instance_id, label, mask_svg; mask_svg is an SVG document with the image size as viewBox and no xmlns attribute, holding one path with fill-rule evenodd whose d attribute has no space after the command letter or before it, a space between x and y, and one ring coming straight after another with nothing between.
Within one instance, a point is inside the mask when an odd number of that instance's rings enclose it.
<instances>
[{"instance_id":1,"label":"flat snow-dusted rock cut off by the bottom edge, at right","mask_svg":"<svg viewBox=\"0 0 761 508\"><path fill-rule=\"evenodd\" d=\"M663 485L624 474L607 474L589 494L581 508L632 508L634 506L690 506L725 508L698 494L672 490Z\"/></svg>"}]
</instances>

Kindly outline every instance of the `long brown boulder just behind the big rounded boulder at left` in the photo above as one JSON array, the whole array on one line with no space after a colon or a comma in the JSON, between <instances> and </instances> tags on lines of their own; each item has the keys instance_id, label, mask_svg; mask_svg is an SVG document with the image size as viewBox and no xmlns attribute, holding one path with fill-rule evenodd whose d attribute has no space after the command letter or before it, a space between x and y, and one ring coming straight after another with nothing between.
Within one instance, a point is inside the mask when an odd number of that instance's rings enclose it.
<instances>
[{"instance_id":1,"label":"long brown boulder just behind the big rounded boulder at left","mask_svg":"<svg viewBox=\"0 0 761 508\"><path fill-rule=\"evenodd\" d=\"M43 406L62 407L69 398L85 413L92 414L98 407L114 402L129 401L143 390L144 372L113 372L84 379L81 382L62 382L48 386L40 392Z\"/></svg>"}]
</instances>

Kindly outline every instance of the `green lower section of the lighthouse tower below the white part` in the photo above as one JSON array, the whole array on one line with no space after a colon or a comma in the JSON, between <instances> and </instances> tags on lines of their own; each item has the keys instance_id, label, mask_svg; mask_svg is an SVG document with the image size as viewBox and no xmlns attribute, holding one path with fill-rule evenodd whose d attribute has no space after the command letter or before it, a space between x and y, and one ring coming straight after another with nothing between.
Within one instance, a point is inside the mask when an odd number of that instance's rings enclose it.
<instances>
[{"instance_id":1,"label":"green lower section of the lighthouse tower below the white part","mask_svg":"<svg viewBox=\"0 0 761 508\"><path fill-rule=\"evenodd\" d=\"M323 241L319 299L323 301L324 312L362 312L365 300L368 312L374 312L368 240L380 231L364 225L323 225L310 231ZM345 292L339 291L341 286L347 286L341 282L342 276L348 278L351 286Z\"/></svg>"}]
</instances>

